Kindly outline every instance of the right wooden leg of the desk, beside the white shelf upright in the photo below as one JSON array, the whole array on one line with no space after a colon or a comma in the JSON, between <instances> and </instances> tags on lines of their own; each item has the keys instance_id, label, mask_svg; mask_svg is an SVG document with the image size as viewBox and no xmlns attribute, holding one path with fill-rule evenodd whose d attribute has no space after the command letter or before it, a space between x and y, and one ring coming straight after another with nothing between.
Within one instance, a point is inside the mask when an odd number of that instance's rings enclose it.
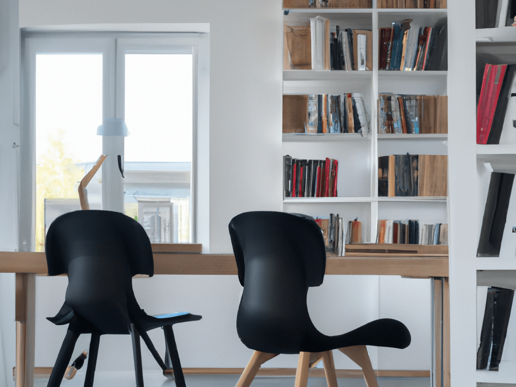
<instances>
[{"instance_id":1,"label":"right wooden leg of the desk, beside the white shelf upright","mask_svg":"<svg viewBox=\"0 0 516 387\"><path fill-rule=\"evenodd\" d=\"M432 279L432 387L450 387L449 282Z\"/></svg>"}]
</instances>

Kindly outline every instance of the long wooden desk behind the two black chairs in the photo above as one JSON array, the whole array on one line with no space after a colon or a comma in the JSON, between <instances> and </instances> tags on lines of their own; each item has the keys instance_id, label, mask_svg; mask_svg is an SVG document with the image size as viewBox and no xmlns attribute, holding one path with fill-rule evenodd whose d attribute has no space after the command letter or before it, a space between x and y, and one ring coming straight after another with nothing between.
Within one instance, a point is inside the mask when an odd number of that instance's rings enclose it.
<instances>
[{"instance_id":1,"label":"long wooden desk behind the two black chairs","mask_svg":"<svg viewBox=\"0 0 516 387\"><path fill-rule=\"evenodd\" d=\"M157 249L154 249L154 251ZM381 256L379 256L381 255ZM16 386L34 382L35 276L47 274L44 253L0 252L0 272L16 273ZM232 254L154 252L155 275L236 275ZM433 288L433 384L449 386L448 257L353 253L329 257L327 275L393 275L431 278Z\"/></svg>"}]
</instances>

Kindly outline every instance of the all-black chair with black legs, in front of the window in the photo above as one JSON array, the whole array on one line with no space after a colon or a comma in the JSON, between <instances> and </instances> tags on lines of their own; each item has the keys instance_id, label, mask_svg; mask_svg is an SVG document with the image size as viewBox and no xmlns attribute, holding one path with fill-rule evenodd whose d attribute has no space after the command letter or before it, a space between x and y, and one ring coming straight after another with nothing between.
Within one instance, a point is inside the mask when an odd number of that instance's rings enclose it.
<instances>
[{"instance_id":1,"label":"all-black chair with black legs, in front of the window","mask_svg":"<svg viewBox=\"0 0 516 387\"><path fill-rule=\"evenodd\" d=\"M149 237L137 221L111 211L61 215L50 225L45 251L49 275L68 274L65 303L55 317L48 318L56 325L68 324L49 387L60 385L81 333L91 333L85 386L93 385L103 334L131 334L138 387L143 386L140 336L164 372L172 367L175 384L185 386L172 325L199 320L201 316L184 312L153 317L139 307L132 277L152 276L154 262ZM147 334L159 327L165 333L165 360Z\"/></svg>"}]
</instances>

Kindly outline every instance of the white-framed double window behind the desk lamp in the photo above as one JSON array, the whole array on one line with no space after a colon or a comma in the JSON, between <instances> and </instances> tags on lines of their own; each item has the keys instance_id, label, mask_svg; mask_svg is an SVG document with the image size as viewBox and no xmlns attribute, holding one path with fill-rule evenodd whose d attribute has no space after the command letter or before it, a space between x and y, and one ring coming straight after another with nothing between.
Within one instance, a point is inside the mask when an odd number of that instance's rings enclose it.
<instances>
[{"instance_id":1,"label":"white-framed double window behind the desk lamp","mask_svg":"<svg viewBox=\"0 0 516 387\"><path fill-rule=\"evenodd\" d=\"M53 219L80 209L78 184L101 155L90 208L137 219L152 243L195 241L199 35L23 37L21 233L36 251ZM97 134L112 119L128 136Z\"/></svg>"}]
</instances>

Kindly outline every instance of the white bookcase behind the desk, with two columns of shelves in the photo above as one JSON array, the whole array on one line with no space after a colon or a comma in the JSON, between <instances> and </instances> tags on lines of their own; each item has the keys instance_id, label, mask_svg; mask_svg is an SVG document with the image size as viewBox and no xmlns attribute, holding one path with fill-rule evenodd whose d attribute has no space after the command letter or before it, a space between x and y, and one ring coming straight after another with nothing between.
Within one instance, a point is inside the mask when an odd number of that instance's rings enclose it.
<instances>
[{"instance_id":1,"label":"white bookcase behind the desk, with two columns of shelves","mask_svg":"<svg viewBox=\"0 0 516 387\"><path fill-rule=\"evenodd\" d=\"M345 220L362 221L363 241L376 240L378 219L418 219L422 223L448 223L447 197L378 197L378 157L392 154L446 155L447 135L378 134L378 95L381 92L416 95L447 95L447 71L379 71L381 27L412 19L421 26L434 26L447 18L446 9L302 8L284 9L285 25L309 24L316 15L330 19L331 25L373 31L373 69L284 70L283 94L364 95L371 131L357 134L283 134L283 154L294 158L339 162L337 198L285 198L286 212L327 218L340 214Z\"/></svg>"}]
</instances>

